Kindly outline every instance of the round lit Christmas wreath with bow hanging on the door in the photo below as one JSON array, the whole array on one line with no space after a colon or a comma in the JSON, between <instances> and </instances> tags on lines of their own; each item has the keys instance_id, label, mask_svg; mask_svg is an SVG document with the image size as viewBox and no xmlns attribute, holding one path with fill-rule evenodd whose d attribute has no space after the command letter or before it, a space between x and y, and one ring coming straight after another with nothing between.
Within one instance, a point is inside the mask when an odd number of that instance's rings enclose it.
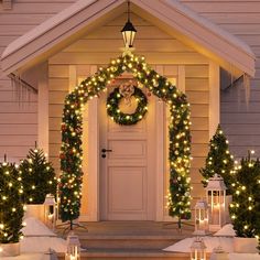
<instances>
[{"instance_id":1,"label":"round lit Christmas wreath with bow hanging on the door","mask_svg":"<svg viewBox=\"0 0 260 260\"><path fill-rule=\"evenodd\" d=\"M124 98L127 105L131 104L131 97L134 97L138 106L133 113L124 113L119 108L119 102ZM133 86L132 83L121 85L113 89L107 99L107 112L112 120L119 124L131 126L140 121L148 111L148 99L143 91Z\"/></svg>"}]
</instances>

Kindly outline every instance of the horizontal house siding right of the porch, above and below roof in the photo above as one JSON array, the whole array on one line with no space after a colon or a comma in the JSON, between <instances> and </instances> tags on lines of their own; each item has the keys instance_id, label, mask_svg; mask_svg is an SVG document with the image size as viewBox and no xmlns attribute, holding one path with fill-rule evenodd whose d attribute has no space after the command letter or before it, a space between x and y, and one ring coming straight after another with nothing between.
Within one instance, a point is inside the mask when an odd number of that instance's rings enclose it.
<instances>
[{"instance_id":1,"label":"horizontal house siding right of the porch, above and below roof","mask_svg":"<svg viewBox=\"0 0 260 260\"><path fill-rule=\"evenodd\" d=\"M260 1L180 2L245 41L257 56L249 104L242 87L221 91L220 121L235 156L246 156L249 149L256 150L256 155L260 156Z\"/></svg>"}]
</instances>

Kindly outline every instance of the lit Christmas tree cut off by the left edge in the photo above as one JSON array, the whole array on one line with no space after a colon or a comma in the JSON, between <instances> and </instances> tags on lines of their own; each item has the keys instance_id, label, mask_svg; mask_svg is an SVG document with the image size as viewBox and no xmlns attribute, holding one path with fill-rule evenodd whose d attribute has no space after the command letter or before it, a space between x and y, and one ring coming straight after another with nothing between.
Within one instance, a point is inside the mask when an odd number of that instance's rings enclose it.
<instances>
[{"instance_id":1,"label":"lit Christmas tree cut off by the left edge","mask_svg":"<svg viewBox=\"0 0 260 260\"><path fill-rule=\"evenodd\" d=\"M0 243L19 242L22 232L22 183L18 165L0 163Z\"/></svg>"}]
</instances>

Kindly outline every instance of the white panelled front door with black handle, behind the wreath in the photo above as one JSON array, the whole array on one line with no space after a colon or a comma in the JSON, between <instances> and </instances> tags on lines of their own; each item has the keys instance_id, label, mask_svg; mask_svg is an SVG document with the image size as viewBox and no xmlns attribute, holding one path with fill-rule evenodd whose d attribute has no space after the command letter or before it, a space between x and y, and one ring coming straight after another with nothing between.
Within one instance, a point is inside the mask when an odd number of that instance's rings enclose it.
<instances>
[{"instance_id":1,"label":"white panelled front door with black handle, behind the wreath","mask_svg":"<svg viewBox=\"0 0 260 260\"><path fill-rule=\"evenodd\" d=\"M112 89L108 87L99 98L100 218L155 220L155 98L148 97L148 112L141 121L119 126L106 110ZM134 110L136 105L122 109Z\"/></svg>"}]
</instances>

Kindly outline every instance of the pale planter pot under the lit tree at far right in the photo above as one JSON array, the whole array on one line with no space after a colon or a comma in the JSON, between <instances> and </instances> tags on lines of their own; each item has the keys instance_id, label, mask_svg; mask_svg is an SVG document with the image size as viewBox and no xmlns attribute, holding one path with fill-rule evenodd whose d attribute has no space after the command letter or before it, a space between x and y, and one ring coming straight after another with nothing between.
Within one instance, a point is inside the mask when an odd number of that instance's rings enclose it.
<instances>
[{"instance_id":1,"label":"pale planter pot under the lit tree at far right","mask_svg":"<svg viewBox=\"0 0 260 260\"><path fill-rule=\"evenodd\" d=\"M240 253L257 253L258 252L257 238L234 238L234 251Z\"/></svg>"}]
</instances>

